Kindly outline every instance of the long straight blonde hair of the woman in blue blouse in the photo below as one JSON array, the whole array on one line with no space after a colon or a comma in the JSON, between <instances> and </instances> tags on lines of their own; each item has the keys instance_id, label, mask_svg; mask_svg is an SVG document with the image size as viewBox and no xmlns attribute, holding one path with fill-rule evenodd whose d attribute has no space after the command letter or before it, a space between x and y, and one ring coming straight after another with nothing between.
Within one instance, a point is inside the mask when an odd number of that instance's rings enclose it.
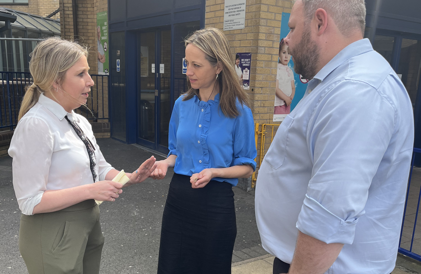
<instances>
[{"instance_id":1,"label":"long straight blonde hair of the woman in blue blouse","mask_svg":"<svg viewBox=\"0 0 421 274\"><path fill-rule=\"evenodd\" d=\"M224 32L218 28L209 27L196 30L185 41L185 46L192 44L202 50L206 55L206 60L212 66L218 63L222 65L222 71L218 76L220 100L219 106L226 117L237 117L239 111L236 107L237 99L241 106L245 105L250 108L248 94L242 89L240 80L231 60L231 49ZM187 79L189 90L186 92L183 100L189 100L194 95L198 95L198 90L190 85Z\"/></svg>"}]
</instances>

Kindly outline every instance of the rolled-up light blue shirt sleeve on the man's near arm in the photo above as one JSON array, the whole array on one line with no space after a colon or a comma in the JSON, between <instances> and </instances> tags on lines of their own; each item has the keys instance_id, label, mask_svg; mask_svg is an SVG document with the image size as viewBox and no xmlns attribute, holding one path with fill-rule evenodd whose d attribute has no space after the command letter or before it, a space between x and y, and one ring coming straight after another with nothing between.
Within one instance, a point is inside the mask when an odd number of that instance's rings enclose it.
<instances>
[{"instance_id":1,"label":"rolled-up light blue shirt sleeve on the man's near arm","mask_svg":"<svg viewBox=\"0 0 421 274\"><path fill-rule=\"evenodd\" d=\"M352 244L395 110L373 87L346 80L322 97L308 127L313 169L296 226L327 244Z\"/></svg>"}]
</instances>

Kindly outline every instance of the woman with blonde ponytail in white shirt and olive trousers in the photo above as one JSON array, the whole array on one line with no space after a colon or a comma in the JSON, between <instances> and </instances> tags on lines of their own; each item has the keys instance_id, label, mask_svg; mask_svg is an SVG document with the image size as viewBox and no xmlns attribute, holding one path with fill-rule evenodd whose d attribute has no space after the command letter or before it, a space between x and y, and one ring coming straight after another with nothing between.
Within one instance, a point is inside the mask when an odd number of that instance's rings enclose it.
<instances>
[{"instance_id":1,"label":"woman with blonde ponytail in white shirt and olive trousers","mask_svg":"<svg viewBox=\"0 0 421 274\"><path fill-rule=\"evenodd\" d=\"M13 186L22 211L19 250L29 274L99 273L104 237L95 200L115 201L119 172L102 156L89 122L73 110L94 85L88 52L49 38L33 50L26 90L13 134ZM148 178L146 160L124 186Z\"/></svg>"}]
</instances>

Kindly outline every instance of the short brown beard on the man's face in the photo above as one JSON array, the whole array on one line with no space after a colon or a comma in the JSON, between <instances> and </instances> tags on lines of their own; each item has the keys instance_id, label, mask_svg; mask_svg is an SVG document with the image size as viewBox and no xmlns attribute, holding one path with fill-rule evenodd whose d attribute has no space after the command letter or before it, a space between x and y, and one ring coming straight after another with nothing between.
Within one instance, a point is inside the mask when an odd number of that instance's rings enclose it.
<instances>
[{"instance_id":1,"label":"short brown beard on the man's face","mask_svg":"<svg viewBox=\"0 0 421 274\"><path fill-rule=\"evenodd\" d=\"M305 27L305 26L304 26ZM294 57L294 71L305 79L311 80L317 74L317 64L319 62L320 50L310 38L310 30L303 33L301 41L292 49L291 55Z\"/></svg>"}]
</instances>

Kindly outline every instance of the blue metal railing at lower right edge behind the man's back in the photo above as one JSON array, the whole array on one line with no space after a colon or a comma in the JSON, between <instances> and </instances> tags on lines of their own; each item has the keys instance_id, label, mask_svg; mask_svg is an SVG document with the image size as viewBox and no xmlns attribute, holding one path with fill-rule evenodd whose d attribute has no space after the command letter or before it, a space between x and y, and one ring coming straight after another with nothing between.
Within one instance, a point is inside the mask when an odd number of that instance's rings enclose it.
<instances>
[{"instance_id":1,"label":"blue metal railing at lower right edge behind the man's back","mask_svg":"<svg viewBox=\"0 0 421 274\"><path fill-rule=\"evenodd\" d=\"M420 233L416 233L416 225L417 225L417 219L418 219L418 210L419 210L419 201L421 200L421 186L419 186L419 181L415 181L412 182L412 189L411 189L411 179L412 179L412 175L414 172L414 161L415 161L415 156L416 155L420 155L421 154L421 149L419 148L414 148L413 149L413 153L412 153L412 160L411 160L411 169L409 172L409 180L408 180L408 188L406 190L406 199L405 199L405 209L403 212L403 218L402 218L402 227L401 227L401 235L399 237L399 248L398 251L399 253L402 253L403 255L406 255L408 257L411 257L415 260L421 261L421 247L417 247L416 250L414 250L414 239L415 239L415 235L417 234L417 238L418 236L420 236L421 238L421 232ZM421 155L420 155L421 156ZM417 168L417 167L415 167ZM416 170L418 172L418 170ZM420 170L421 171L421 170ZM420 188L418 190L418 188ZM412 191L410 191L412 190ZM413 209L413 207L411 207L412 205L415 204L415 200L409 200L411 195L415 195L416 191L418 191L418 199L416 201L416 211L415 213L410 213L407 214L409 209ZM411 194L414 193L414 194ZM408 204L409 203L413 203L413 204ZM409 219L410 217L412 218L415 215L415 219L412 223L412 221ZM407 217L407 222L405 223L405 217ZM409 224L407 226L405 226L405 224ZM413 227L411 227L413 225ZM411 231L412 230L412 231ZM411 233L409 233L408 231L411 231ZM405 235L403 235L405 233ZM409 236L410 235L410 236ZM409 237L410 237L410 241L408 241ZM415 239L416 241L416 239ZM410 242L410 243L409 243ZM409 249L408 249L409 246ZM417 254L416 252L420 253Z\"/></svg>"}]
</instances>

